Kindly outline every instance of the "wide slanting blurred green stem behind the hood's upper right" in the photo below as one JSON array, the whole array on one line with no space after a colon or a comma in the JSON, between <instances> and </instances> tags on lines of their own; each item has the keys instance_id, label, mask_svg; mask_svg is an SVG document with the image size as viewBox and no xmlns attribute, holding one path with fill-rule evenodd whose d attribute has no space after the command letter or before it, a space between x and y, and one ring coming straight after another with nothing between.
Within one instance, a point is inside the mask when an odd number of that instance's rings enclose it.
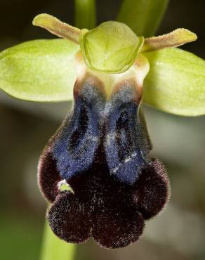
<instances>
[{"instance_id":1,"label":"wide slanting blurred green stem behind the hood's upper right","mask_svg":"<svg viewBox=\"0 0 205 260\"><path fill-rule=\"evenodd\" d=\"M137 35L151 37L164 16L168 0L124 0L117 20Z\"/></svg>"}]
</instances>

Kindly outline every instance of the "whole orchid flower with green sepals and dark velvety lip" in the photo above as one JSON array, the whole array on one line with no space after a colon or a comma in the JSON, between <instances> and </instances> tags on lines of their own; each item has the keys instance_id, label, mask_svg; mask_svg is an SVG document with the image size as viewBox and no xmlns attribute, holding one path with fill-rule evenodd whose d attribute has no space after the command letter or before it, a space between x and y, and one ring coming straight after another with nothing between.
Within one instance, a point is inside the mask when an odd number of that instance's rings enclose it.
<instances>
[{"instance_id":1,"label":"whole orchid flower with green sepals and dark velvety lip","mask_svg":"<svg viewBox=\"0 0 205 260\"><path fill-rule=\"evenodd\" d=\"M204 60L176 48L197 36L177 29L143 37L117 21L80 30L47 14L33 24L63 39L0 53L0 87L41 102L73 95L72 111L39 160L48 223L67 242L93 237L102 247L125 247L170 195L166 169L150 155L142 104L177 115L205 112Z\"/></svg>"}]
</instances>

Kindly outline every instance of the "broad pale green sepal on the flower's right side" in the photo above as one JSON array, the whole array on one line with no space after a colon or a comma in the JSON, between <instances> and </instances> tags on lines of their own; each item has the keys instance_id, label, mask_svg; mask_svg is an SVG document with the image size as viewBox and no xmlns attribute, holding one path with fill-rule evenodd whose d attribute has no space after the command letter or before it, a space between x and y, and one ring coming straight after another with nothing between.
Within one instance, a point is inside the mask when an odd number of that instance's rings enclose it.
<instances>
[{"instance_id":1,"label":"broad pale green sepal on the flower's right side","mask_svg":"<svg viewBox=\"0 0 205 260\"><path fill-rule=\"evenodd\" d=\"M143 53L150 62L143 101L176 115L205 114L205 61L179 48Z\"/></svg>"}]
</instances>

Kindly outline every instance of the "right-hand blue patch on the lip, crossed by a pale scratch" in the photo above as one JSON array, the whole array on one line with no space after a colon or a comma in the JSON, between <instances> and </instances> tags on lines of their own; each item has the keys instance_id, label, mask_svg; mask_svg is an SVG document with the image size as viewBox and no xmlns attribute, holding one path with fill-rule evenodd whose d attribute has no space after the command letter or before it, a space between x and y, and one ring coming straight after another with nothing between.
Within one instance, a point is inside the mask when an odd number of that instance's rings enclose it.
<instances>
[{"instance_id":1,"label":"right-hand blue patch on the lip, crossed by a pale scratch","mask_svg":"<svg viewBox=\"0 0 205 260\"><path fill-rule=\"evenodd\" d=\"M110 172L130 184L135 182L146 163L138 143L138 139L145 136L139 136L137 115L138 105L135 103L120 104L110 113L107 124L105 151Z\"/></svg>"}]
</instances>

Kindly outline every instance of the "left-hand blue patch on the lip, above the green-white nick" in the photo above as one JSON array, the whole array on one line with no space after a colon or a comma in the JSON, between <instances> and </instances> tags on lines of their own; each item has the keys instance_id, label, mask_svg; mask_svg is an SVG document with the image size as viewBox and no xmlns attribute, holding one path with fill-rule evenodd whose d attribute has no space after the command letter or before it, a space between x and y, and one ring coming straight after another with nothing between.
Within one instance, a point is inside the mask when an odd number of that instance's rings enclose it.
<instances>
[{"instance_id":1,"label":"left-hand blue patch on the lip, above the green-white nick","mask_svg":"<svg viewBox=\"0 0 205 260\"><path fill-rule=\"evenodd\" d=\"M95 112L83 100L77 100L70 119L65 120L53 155L60 176L69 179L88 169L98 147L99 123Z\"/></svg>"}]
</instances>

